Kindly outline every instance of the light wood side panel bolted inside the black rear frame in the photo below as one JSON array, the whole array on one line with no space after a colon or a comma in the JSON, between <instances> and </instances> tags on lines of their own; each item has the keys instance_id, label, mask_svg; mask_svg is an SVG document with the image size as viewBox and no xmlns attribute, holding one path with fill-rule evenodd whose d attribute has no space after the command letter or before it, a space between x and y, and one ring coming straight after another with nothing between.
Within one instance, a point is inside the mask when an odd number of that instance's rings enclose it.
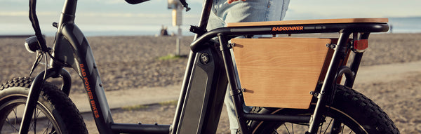
<instances>
[{"instance_id":1,"label":"light wood side panel bolted inside the black rear frame","mask_svg":"<svg viewBox=\"0 0 421 134\"><path fill-rule=\"evenodd\" d=\"M232 39L248 106L307 109L330 39Z\"/></svg>"}]
</instances>

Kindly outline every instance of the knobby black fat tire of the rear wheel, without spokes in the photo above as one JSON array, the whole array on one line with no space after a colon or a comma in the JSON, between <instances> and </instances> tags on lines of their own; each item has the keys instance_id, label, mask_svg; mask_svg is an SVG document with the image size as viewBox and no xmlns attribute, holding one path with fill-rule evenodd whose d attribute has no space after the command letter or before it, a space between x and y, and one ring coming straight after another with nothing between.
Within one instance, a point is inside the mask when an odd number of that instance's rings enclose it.
<instances>
[{"instance_id":1,"label":"knobby black fat tire of the rear wheel, without spokes","mask_svg":"<svg viewBox=\"0 0 421 134\"><path fill-rule=\"evenodd\" d=\"M314 107L314 105L312 106ZM383 110L372 100L345 86L337 86L335 97L332 105L328 107L327 116L332 118L350 118L354 119L368 133L399 133L398 128ZM338 109L338 110L333 110ZM253 107L250 112L258 114L312 114L314 108L310 109L279 109L267 107ZM337 112L339 111L339 112ZM344 114L342 114L344 113ZM345 115L346 114L346 115ZM345 121L344 121L345 122ZM351 121L352 122L352 121ZM270 121L248 121L251 132L254 133L272 133L273 130L279 128L282 123ZM350 125L350 128L359 129ZM354 129L352 129L354 130ZM359 130L355 130L355 133ZM304 132L298 132L304 133ZM365 133L365 132L364 132Z\"/></svg>"}]
</instances>

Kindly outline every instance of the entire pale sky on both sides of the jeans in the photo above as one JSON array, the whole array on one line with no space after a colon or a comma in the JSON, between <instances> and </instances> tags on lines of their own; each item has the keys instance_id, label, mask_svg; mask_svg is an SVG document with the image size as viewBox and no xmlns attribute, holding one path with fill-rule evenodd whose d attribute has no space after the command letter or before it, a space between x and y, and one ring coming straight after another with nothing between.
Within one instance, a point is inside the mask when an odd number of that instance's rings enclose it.
<instances>
[{"instance_id":1,"label":"entire pale sky on both sides of the jeans","mask_svg":"<svg viewBox=\"0 0 421 134\"><path fill-rule=\"evenodd\" d=\"M28 24L30 29L28 2L0 0L0 24L8 24L7 27L0 25L0 30L22 29L18 24ZM64 1L37 2L41 27L51 27L52 22L58 21ZM187 0L187 3L192 10L183 13L183 25L197 25L202 0ZM421 17L420 5L420 0L291 0L285 20ZM81 29L130 30L147 29L152 25L172 27L171 20L167 0L151 0L138 5L126 4L123 0L79 0L75 22Z\"/></svg>"}]
</instances>

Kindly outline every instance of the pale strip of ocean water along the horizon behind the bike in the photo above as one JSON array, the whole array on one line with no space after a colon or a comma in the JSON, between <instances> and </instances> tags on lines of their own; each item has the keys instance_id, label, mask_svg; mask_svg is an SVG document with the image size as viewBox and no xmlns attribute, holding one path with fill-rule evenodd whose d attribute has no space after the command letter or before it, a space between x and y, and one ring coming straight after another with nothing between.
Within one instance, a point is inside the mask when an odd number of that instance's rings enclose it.
<instances>
[{"instance_id":1,"label":"pale strip of ocean water along the horizon behind the bike","mask_svg":"<svg viewBox=\"0 0 421 134\"><path fill-rule=\"evenodd\" d=\"M159 34L162 25L85 25L76 24L82 30L85 36L133 36L133 35L149 35ZM413 18L389 18L393 33L421 33L421 17ZM178 27L168 27L168 33L177 33ZM189 26L180 27L182 35L194 35L188 32ZM46 36L54 36L57 29L49 24L42 24L41 29ZM27 23L0 23L0 35L27 35L34 34L29 22Z\"/></svg>"}]
</instances>

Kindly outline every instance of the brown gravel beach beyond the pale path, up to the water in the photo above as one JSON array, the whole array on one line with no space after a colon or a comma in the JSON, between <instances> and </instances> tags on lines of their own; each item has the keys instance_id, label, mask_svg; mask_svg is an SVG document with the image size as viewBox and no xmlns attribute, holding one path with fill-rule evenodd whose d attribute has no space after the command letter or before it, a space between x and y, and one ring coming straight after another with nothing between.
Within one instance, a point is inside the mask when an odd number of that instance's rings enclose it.
<instances>
[{"instance_id":1,"label":"brown gravel beach beyond the pale path, up to the water","mask_svg":"<svg viewBox=\"0 0 421 134\"><path fill-rule=\"evenodd\" d=\"M319 36L311 34L309 36ZM332 34L322 35L332 36ZM384 65L421 60L421 34L372 34L361 65ZM192 37L181 42L182 55L188 55ZM0 81L27 76L35 54L27 53L24 38L0 38ZM175 53L175 37L93 36L88 37L102 82L107 91L180 84L187 58L159 60ZM53 38L47 38L53 42ZM38 71L43 67L38 67ZM73 69L73 92L83 93L79 76Z\"/></svg>"}]
</instances>

